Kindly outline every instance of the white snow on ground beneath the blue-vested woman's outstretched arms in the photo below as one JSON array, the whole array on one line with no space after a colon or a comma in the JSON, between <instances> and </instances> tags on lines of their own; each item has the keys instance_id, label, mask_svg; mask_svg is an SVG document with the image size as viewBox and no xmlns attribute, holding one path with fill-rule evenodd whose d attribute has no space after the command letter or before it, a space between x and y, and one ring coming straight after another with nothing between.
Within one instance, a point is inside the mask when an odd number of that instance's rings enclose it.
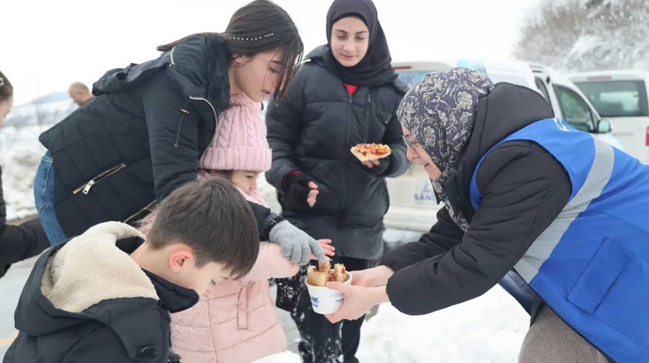
<instances>
[{"instance_id":1,"label":"white snow on ground beneath the blue-vested woman's outstretched arms","mask_svg":"<svg viewBox=\"0 0 649 363\"><path fill-rule=\"evenodd\" d=\"M383 304L363 325L357 357L363 363L517 362L529 321L500 286L423 316L407 316ZM300 359L287 352L256 363L300 363Z\"/></svg>"}]
</instances>

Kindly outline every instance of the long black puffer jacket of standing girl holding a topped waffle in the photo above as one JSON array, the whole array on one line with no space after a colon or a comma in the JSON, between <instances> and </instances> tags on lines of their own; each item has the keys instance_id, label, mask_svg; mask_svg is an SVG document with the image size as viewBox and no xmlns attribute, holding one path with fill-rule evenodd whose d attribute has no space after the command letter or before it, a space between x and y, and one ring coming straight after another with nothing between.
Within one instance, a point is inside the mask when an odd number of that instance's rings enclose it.
<instances>
[{"instance_id":1,"label":"long black puffer jacket of standing girl holding a topped waffle","mask_svg":"<svg viewBox=\"0 0 649 363\"><path fill-rule=\"evenodd\" d=\"M408 168L406 145L395 112L407 88L397 81L359 87L350 95L335 75L326 46L307 56L289 90L289 101L266 113L273 166L266 179L278 189L283 216L314 238L330 238L336 254L377 258L382 253L383 216L389 206L385 177ZM375 142L392 148L389 169L370 175L350 153L353 145ZM286 196L284 181L302 171L318 184L313 208Z\"/></svg>"}]
</instances>

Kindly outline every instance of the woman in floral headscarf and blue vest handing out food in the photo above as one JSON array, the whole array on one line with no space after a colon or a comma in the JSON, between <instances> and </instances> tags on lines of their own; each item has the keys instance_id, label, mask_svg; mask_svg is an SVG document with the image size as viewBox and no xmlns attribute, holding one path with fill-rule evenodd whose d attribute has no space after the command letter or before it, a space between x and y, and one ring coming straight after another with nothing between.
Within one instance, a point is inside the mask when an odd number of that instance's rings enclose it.
<instances>
[{"instance_id":1,"label":"woman in floral headscarf and blue vest handing out food","mask_svg":"<svg viewBox=\"0 0 649 363\"><path fill-rule=\"evenodd\" d=\"M354 286L331 283L331 321L387 301L427 314L500 281L532 315L519 362L647 361L649 166L466 68L426 75L397 116L444 207Z\"/></svg>"}]
</instances>

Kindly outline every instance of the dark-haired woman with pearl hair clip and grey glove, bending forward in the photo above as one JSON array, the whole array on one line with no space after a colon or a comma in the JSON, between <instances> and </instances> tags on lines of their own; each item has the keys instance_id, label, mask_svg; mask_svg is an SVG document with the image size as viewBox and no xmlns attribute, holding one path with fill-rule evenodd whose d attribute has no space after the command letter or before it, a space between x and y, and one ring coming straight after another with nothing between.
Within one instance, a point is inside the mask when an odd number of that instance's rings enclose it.
<instances>
[{"instance_id":1,"label":"dark-haired woman with pearl hair clip and grey glove, bending forward","mask_svg":"<svg viewBox=\"0 0 649 363\"><path fill-rule=\"evenodd\" d=\"M230 95L282 99L302 49L286 11L255 0L225 32L160 45L158 58L106 72L93 84L95 97L40 136L47 153L34 193L52 244L104 221L132 224L195 180ZM312 250L324 259L313 238L268 208L250 207L260 240L282 245L293 262L306 264Z\"/></svg>"}]
</instances>

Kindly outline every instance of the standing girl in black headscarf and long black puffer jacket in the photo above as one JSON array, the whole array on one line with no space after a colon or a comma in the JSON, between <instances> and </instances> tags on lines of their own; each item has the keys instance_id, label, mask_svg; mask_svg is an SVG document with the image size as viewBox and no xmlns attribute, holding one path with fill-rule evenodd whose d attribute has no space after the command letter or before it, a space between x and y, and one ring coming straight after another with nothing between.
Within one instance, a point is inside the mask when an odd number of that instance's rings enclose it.
<instances>
[{"instance_id":1,"label":"standing girl in black headscarf and long black puffer jacket","mask_svg":"<svg viewBox=\"0 0 649 363\"><path fill-rule=\"evenodd\" d=\"M266 114L284 218L314 238L330 238L333 263L368 268L382 255L386 177L408 168L395 112L407 91L391 67L386 36L371 0L336 0L327 14L328 44L313 49L289 88L288 101ZM392 155L361 163L360 143L387 144ZM300 274L278 281L278 306L293 314L304 362L358 362L363 319L331 324L315 314ZM342 336L341 336L342 334Z\"/></svg>"}]
</instances>

